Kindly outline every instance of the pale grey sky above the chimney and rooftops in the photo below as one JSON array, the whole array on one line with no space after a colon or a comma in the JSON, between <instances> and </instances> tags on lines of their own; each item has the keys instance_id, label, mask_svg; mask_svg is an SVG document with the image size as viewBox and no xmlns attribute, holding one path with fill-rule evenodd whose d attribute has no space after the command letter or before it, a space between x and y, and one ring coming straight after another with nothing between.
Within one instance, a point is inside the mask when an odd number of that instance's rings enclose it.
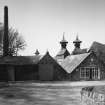
<instances>
[{"instance_id":1,"label":"pale grey sky above the chimney and rooftops","mask_svg":"<svg viewBox=\"0 0 105 105\"><path fill-rule=\"evenodd\" d=\"M81 48L93 41L105 44L105 0L0 0L0 22L4 6L9 8L9 26L16 28L27 42L24 55L36 49L43 55L49 50L55 56L65 32L68 50L74 49L78 33Z\"/></svg>"}]
</instances>

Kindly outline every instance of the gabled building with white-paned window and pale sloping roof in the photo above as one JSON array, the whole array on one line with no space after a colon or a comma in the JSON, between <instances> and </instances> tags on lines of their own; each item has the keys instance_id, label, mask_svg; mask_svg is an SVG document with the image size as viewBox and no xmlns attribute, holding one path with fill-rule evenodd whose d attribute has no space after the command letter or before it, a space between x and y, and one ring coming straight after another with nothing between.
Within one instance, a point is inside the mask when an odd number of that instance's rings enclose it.
<instances>
[{"instance_id":1,"label":"gabled building with white-paned window and pale sloping roof","mask_svg":"<svg viewBox=\"0 0 105 105\"><path fill-rule=\"evenodd\" d=\"M70 55L64 59L61 66L72 81L105 79L105 65L94 52Z\"/></svg>"}]
</instances>

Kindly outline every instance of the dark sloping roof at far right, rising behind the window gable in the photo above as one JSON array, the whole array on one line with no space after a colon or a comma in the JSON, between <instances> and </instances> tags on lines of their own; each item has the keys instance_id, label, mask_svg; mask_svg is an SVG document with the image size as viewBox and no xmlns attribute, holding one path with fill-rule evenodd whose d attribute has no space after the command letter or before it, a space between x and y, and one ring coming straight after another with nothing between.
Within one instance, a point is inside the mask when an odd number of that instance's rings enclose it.
<instances>
[{"instance_id":1,"label":"dark sloping roof at far right, rising behind the window gable","mask_svg":"<svg viewBox=\"0 0 105 105\"><path fill-rule=\"evenodd\" d=\"M89 51L94 51L97 57L105 63L105 44L93 42Z\"/></svg>"}]
</instances>

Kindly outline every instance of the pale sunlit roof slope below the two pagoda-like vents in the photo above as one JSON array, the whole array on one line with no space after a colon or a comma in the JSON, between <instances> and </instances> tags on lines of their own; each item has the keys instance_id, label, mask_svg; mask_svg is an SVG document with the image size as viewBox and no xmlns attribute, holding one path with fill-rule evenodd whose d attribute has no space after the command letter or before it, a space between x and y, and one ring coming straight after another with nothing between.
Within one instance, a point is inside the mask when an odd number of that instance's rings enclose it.
<instances>
[{"instance_id":1,"label":"pale sunlit roof slope below the two pagoda-like vents","mask_svg":"<svg viewBox=\"0 0 105 105\"><path fill-rule=\"evenodd\" d=\"M71 73L81 62L83 62L90 53L70 55L67 56L61 63L61 66L68 72Z\"/></svg>"}]
</instances>

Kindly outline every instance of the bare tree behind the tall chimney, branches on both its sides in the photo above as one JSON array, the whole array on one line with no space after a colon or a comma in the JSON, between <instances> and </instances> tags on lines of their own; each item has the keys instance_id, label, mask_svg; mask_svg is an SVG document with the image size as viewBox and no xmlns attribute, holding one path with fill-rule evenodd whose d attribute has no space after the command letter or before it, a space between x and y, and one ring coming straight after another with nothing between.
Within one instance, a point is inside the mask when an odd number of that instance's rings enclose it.
<instances>
[{"instance_id":1,"label":"bare tree behind the tall chimney, branches on both its sides","mask_svg":"<svg viewBox=\"0 0 105 105\"><path fill-rule=\"evenodd\" d=\"M10 28L8 32L8 38L10 56L17 56L20 50L25 49L26 42L17 30ZM0 51L3 53L3 28L0 30Z\"/></svg>"}]
</instances>

